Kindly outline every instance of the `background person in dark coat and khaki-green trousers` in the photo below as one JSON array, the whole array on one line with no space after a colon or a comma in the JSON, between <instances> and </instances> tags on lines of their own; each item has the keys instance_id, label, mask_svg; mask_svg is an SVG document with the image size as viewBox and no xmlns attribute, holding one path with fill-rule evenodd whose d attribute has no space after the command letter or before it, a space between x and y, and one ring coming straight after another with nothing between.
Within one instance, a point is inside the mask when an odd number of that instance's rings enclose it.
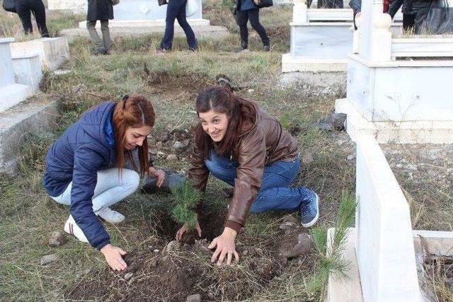
<instances>
[{"instance_id":1,"label":"background person in dark coat and khaki-green trousers","mask_svg":"<svg viewBox=\"0 0 453 302\"><path fill-rule=\"evenodd\" d=\"M108 54L111 47L108 21L113 19L113 4L110 0L88 0L86 28L94 43L94 54ZM102 40L96 31L96 22L101 21Z\"/></svg>"}]
</instances>

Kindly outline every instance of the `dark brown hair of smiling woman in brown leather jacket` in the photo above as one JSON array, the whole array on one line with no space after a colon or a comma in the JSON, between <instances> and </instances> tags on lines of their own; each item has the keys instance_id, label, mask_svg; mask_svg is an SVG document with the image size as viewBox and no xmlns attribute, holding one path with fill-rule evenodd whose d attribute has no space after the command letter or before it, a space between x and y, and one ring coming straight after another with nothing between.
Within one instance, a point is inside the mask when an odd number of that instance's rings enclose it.
<instances>
[{"instance_id":1,"label":"dark brown hair of smiling woman in brown leather jacket","mask_svg":"<svg viewBox=\"0 0 453 302\"><path fill-rule=\"evenodd\" d=\"M198 95L195 103L197 115L214 110L225 113L228 117L228 128L222 141L216 146L216 152L227 156L233 155L239 143L239 134L245 124L253 124L256 120L256 108L251 100L238 97L222 86L206 88ZM203 130L201 122L195 127L195 144L201 149L205 158L214 147L209 134Z\"/></svg>"}]
</instances>

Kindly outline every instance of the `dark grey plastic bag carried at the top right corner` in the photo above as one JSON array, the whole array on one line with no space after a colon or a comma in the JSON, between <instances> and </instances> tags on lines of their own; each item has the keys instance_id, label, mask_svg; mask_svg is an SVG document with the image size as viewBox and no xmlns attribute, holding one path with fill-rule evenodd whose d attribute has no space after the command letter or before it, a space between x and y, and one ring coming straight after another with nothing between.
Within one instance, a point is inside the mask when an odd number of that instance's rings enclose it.
<instances>
[{"instance_id":1,"label":"dark grey plastic bag carried at the top right corner","mask_svg":"<svg viewBox=\"0 0 453 302\"><path fill-rule=\"evenodd\" d=\"M421 8L415 15L415 33L442 35L453 33L453 8L447 0L435 0L429 8Z\"/></svg>"}]
</instances>

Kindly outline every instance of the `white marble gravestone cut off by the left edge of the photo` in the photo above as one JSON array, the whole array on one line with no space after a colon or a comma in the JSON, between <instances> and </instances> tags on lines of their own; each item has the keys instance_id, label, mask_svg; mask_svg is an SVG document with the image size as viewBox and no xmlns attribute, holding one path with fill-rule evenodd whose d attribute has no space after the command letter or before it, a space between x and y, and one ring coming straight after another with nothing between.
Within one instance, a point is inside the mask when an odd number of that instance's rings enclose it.
<instances>
[{"instance_id":1,"label":"white marble gravestone cut off by the left edge of the photo","mask_svg":"<svg viewBox=\"0 0 453 302\"><path fill-rule=\"evenodd\" d=\"M0 39L0 112L21 103L32 93L30 86L15 82L11 42L14 42L12 37Z\"/></svg>"}]
</instances>

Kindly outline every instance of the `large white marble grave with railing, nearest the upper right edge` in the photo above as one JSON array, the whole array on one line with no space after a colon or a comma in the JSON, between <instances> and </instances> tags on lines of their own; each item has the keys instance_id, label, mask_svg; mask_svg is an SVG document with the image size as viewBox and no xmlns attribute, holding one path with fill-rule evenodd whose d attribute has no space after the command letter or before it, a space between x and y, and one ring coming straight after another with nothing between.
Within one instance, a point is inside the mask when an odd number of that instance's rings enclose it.
<instances>
[{"instance_id":1,"label":"large white marble grave with railing, nearest the upper right edge","mask_svg":"<svg viewBox=\"0 0 453 302\"><path fill-rule=\"evenodd\" d=\"M377 0L362 4L347 98L336 103L352 117L348 133L383 143L453 143L453 37L392 37L390 17L379 9Z\"/></svg>"}]
</instances>

